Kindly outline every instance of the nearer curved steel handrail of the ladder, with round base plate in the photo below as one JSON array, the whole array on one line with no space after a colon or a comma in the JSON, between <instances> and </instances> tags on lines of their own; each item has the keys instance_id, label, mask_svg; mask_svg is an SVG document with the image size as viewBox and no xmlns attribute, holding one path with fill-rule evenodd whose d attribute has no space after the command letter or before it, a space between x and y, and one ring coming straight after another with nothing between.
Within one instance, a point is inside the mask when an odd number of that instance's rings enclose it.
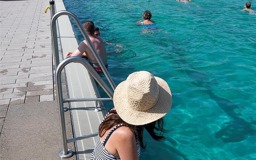
<instances>
[{"instance_id":1,"label":"nearer curved steel handrail of the ladder, with round base plate","mask_svg":"<svg viewBox=\"0 0 256 160\"><path fill-rule=\"evenodd\" d=\"M58 65L56 68L56 91L57 91L57 102L58 102L58 110L59 110L59 119L60 119L60 131L61 131L61 142L62 142L62 148L63 150L59 152L59 156L61 158L68 158L73 156L72 150L68 149L68 142L73 142L76 140L82 140L84 138L89 138L98 135L98 133L93 133L81 137L76 137L72 139L67 140L67 135L66 135L66 126L65 126L65 116L64 116L64 108L63 108L63 95L62 95L62 87L61 87L61 71L62 69L68 65L71 62L76 62L76 63L81 63L84 65L84 67L88 70L88 72L92 75L92 77L102 86L103 90L108 94L111 100L113 100L113 95L114 93L111 91L111 89L108 87L108 85L101 79L99 74L92 68L92 66L84 60L81 57L70 57ZM100 100L101 98L98 99L93 99L93 100ZM69 99L70 100L70 99ZM72 99L71 99L72 100Z\"/></svg>"}]
</instances>

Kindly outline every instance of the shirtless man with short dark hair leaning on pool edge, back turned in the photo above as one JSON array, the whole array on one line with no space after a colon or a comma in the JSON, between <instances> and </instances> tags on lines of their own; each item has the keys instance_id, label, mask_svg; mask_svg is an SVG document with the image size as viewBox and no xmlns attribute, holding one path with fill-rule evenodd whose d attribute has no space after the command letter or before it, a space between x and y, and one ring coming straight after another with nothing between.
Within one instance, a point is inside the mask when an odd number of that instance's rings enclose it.
<instances>
[{"instance_id":1,"label":"shirtless man with short dark hair leaning on pool edge, back turned","mask_svg":"<svg viewBox=\"0 0 256 160\"><path fill-rule=\"evenodd\" d=\"M95 31L94 23L92 21L88 20L88 21L84 22L83 27L84 27L86 33L88 34L90 40L92 41L92 44L95 47L96 51L98 52L104 65L106 66L106 68L108 68L107 51L106 51L106 48L105 48L101 38L99 36L94 35L94 31ZM67 52L65 54L66 58L71 57L71 56L87 57L89 63L92 65L92 67L96 70L96 72L98 74L103 72L85 40L83 40L79 44L78 48L74 52Z\"/></svg>"}]
</instances>

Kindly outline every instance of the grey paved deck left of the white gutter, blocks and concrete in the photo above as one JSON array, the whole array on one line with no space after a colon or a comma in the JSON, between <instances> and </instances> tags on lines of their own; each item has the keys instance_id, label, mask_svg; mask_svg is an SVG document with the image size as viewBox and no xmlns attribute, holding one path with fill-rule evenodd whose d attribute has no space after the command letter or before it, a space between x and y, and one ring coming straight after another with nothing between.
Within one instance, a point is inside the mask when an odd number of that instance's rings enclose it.
<instances>
[{"instance_id":1,"label":"grey paved deck left of the white gutter, blocks and concrete","mask_svg":"<svg viewBox=\"0 0 256 160\"><path fill-rule=\"evenodd\" d=\"M0 3L0 159L60 159L48 5L43 0ZM65 78L62 86L67 94ZM67 137L73 138L69 112L65 118ZM74 143L68 148L75 151Z\"/></svg>"}]
</instances>

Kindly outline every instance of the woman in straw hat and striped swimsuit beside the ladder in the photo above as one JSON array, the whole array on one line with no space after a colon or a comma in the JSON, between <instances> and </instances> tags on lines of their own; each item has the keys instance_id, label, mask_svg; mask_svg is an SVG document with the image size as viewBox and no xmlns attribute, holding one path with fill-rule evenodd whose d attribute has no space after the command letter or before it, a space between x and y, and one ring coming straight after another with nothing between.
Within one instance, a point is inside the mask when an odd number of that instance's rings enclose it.
<instances>
[{"instance_id":1,"label":"woman in straw hat and striped swimsuit beside the ladder","mask_svg":"<svg viewBox=\"0 0 256 160\"><path fill-rule=\"evenodd\" d=\"M145 128L154 140L164 140L162 117L172 105L168 84L147 71L134 72L114 92L114 107L99 127L91 160L139 160ZM157 126L156 126L157 122ZM160 131L160 134L155 130Z\"/></svg>"}]
</instances>

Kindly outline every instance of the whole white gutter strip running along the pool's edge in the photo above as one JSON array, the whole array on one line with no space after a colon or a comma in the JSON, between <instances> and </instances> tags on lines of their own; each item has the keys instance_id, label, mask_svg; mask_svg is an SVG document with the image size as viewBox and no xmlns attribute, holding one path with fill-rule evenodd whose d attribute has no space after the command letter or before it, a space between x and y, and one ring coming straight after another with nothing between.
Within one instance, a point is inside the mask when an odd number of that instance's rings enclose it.
<instances>
[{"instance_id":1,"label":"whole white gutter strip running along the pool's edge","mask_svg":"<svg viewBox=\"0 0 256 160\"><path fill-rule=\"evenodd\" d=\"M66 10L62 0L55 0L56 11ZM71 11L72 12L72 11ZM74 51L78 47L77 40L68 16L61 16L57 20L60 47L63 53ZM100 98L95 80L86 68L79 63L71 63L64 68L67 82L68 98ZM106 108L99 101L99 112L95 112L95 101L69 102L73 128L73 137L98 132L98 127L106 114ZM68 119L67 119L68 120ZM97 137L75 142L76 157L78 160L90 159Z\"/></svg>"}]
</instances>

